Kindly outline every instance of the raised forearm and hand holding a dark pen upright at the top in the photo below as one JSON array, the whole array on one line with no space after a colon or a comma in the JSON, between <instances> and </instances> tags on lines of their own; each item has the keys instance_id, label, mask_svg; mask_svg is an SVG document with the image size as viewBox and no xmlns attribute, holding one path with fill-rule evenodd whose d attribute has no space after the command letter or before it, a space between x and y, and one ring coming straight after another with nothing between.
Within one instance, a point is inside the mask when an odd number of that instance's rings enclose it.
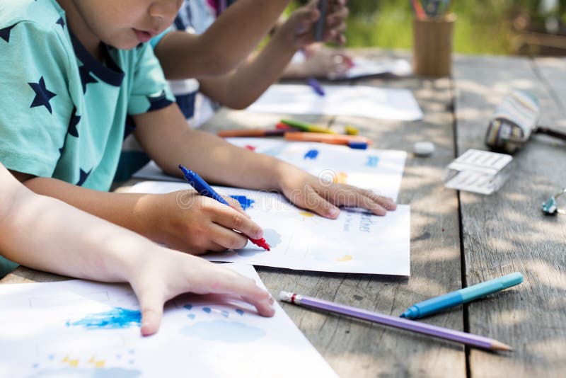
<instances>
[{"instance_id":1,"label":"raised forearm and hand holding a dark pen upright at the top","mask_svg":"<svg viewBox=\"0 0 566 378\"><path fill-rule=\"evenodd\" d=\"M297 9L277 28L265 48L236 71L218 78L200 78L202 93L235 109L246 108L257 100L278 79L294 53L314 41L314 27L319 16L316 4L317 1L311 1ZM345 6L335 6L331 10L333 12L325 19L325 40L340 42L348 10Z\"/></svg>"}]
</instances>

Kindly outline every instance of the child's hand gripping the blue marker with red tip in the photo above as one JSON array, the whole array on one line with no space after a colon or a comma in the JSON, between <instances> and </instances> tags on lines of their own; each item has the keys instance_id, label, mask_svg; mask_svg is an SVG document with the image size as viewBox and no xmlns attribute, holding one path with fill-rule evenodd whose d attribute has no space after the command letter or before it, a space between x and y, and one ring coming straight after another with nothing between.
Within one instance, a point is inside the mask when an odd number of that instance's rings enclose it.
<instances>
[{"instance_id":1,"label":"child's hand gripping the blue marker with red tip","mask_svg":"<svg viewBox=\"0 0 566 378\"><path fill-rule=\"evenodd\" d=\"M260 239L263 234L261 227L231 197L226 197L226 201L233 208L194 190L145 198L141 204L143 219L148 222L144 234L179 251L197 255L243 248L248 243L246 236Z\"/></svg>"}]
</instances>

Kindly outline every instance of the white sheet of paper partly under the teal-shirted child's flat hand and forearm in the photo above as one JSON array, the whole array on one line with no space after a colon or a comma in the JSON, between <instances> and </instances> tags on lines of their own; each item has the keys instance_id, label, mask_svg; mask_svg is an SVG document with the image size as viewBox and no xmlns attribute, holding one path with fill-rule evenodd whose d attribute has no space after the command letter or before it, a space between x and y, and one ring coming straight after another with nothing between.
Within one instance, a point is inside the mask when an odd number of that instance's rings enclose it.
<instances>
[{"instance_id":1,"label":"white sheet of paper partly under the teal-shirted child's flat hand and forearm","mask_svg":"<svg viewBox=\"0 0 566 378\"><path fill-rule=\"evenodd\" d=\"M374 190L397 200L407 153L397 150L350 149L315 142L285 142L270 138L228 138L239 147L252 149L288 161L318 176L335 182ZM134 174L134 178L159 181L183 179L168 176L153 161Z\"/></svg>"}]
</instances>

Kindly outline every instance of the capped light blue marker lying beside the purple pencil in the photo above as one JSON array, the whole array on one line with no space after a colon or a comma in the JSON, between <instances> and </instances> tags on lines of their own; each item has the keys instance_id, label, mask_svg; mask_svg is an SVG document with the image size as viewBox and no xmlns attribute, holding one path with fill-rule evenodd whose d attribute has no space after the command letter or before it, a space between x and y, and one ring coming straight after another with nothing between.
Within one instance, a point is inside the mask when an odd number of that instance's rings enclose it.
<instances>
[{"instance_id":1,"label":"capped light blue marker lying beside the purple pencil","mask_svg":"<svg viewBox=\"0 0 566 378\"><path fill-rule=\"evenodd\" d=\"M424 302L413 304L407 309L407 311L401 314L401 317L407 319L419 319L423 316L458 306L458 304L463 304L495 292L500 292L508 287L519 285L521 282L523 282L523 275L519 272L504 275L503 277L495 278L495 280L482 282L478 285L466 287L461 290L456 290L455 292L449 292L448 294L441 295L440 297L427 299Z\"/></svg>"}]
</instances>

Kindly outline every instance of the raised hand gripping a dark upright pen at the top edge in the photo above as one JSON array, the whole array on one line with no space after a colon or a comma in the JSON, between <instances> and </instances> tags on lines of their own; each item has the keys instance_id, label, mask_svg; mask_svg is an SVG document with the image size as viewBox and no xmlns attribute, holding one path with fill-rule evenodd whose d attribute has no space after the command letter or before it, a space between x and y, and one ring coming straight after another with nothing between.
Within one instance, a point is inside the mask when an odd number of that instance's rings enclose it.
<instances>
[{"instance_id":1,"label":"raised hand gripping a dark upright pen at the top edge","mask_svg":"<svg viewBox=\"0 0 566 378\"><path fill-rule=\"evenodd\" d=\"M277 29L276 35L283 35L296 49L301 49L315 42L314 30L320 12L316 8L318 0L311 0L306 6L291 14L281 28ZM323 42L337 42L344 45L346 37L345 20L348 16L346 0L328 0L327 11L324 22Z\"/></svg>"}]
</instances>

